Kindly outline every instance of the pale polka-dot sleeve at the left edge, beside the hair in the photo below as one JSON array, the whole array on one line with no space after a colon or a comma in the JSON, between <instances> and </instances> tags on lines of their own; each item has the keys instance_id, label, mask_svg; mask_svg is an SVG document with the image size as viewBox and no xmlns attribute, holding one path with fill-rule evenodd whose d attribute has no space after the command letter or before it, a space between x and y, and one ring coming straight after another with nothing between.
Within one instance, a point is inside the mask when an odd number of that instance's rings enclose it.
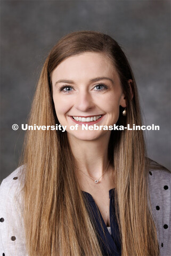
<instances>
[{"instance_id":1,"label":"pale polka-dot sleeve at the left edge, beside the hair","mask_svg":"<svg viewBox=\"0 0 171 256\"><path fill-rule=\"evenodd\" d=\"M0 255L27 256L21 191L16 170L0 186Z\"/></svg>"}]
</instances>

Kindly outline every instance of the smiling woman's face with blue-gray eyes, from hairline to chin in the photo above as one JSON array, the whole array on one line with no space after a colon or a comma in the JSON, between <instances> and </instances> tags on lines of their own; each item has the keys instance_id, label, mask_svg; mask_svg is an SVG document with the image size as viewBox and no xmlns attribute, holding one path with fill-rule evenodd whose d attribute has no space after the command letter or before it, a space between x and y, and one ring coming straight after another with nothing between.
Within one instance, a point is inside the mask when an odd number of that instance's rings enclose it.
<instances>
[{"instance_id":1,"label":"smiling woman's face with blue-gray eyes, from hairline to chin","mask_svg":"<svg viewBox=\"0 0 171 256\"><path fill-rule=\"evenodd\" d=\"M108 130L82 130L82 124L113 125L126 107L119 75L104 53L85 52L63 60L51 74L53 101L69 138L96 140ZM77 125L77 130L70 126ZM108 134L109 135L109 134Z\"/></svg>"}]
</instances>

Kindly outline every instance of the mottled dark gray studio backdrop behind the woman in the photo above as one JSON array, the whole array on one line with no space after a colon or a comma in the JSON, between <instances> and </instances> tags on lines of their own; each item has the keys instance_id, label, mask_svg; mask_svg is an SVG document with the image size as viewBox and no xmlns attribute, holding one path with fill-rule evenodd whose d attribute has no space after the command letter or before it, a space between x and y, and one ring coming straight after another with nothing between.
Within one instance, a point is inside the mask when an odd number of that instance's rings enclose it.
<instances>
[{"instance_id":1,"label":"mottled dark gray studio backdrop behind the woman","mask_svg":"<svg viewBox=\"0 0 171 256\"><path fill-rule=\"evenodd\" d=\"M170 168L170 1L1 1L1 178L18 166L43 62L75 30L111 35L131 61L149 157Z\"/></svg>"}]
</instances>

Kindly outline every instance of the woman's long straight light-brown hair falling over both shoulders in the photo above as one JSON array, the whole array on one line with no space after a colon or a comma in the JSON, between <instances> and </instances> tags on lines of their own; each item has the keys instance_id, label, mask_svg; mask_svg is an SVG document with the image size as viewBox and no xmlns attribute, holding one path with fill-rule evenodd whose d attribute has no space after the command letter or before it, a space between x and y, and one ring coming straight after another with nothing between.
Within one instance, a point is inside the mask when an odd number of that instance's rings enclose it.
<instances>
[{"instance_id":1,"label":"woman's long straight light-brown hair falling over both shoulders","mask_svg":"<svg viewBox=\"0 0 171 256\"><path fill-rule=\"evenodd\" d=\"M59 124L50 75L59 63L86 51L103 52L115 65L127 95L127 116L118 125L141 125L132 69L118 43L96 31L77 31L62 39L48 55L37 84L29 125ZM134 98L128 86L133 80ZM120 113L123 109L120 109ZM122 255L159 255L156 227L149 205L148 161L142 131L112 131L109 157L115 169L115 207ZM24 221L29 256L102 255L93 221L74 170L66 132L28 131L20 164L25 176Z\"/></svg>"}]
</instances>

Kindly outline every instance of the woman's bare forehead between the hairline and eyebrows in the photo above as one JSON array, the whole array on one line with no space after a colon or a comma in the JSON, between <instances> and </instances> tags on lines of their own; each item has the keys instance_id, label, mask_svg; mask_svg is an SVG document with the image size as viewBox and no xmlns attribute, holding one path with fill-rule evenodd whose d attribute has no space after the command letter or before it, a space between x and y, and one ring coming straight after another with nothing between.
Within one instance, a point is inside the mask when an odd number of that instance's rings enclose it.
<instances>
[{"instance_id":1,"label":"woman's bare forehead between the hairline and eyebrows","mask_svg":"<svg viewBox=\"0 0 171 256\"><path fill-rule=\"evenodd\" d=\"M100 76L113 77L118 74L107 54L97 52L84 52L64 59L51 74L52 83L56 79L91 79Z\"/></svg>"}]
</instances>

